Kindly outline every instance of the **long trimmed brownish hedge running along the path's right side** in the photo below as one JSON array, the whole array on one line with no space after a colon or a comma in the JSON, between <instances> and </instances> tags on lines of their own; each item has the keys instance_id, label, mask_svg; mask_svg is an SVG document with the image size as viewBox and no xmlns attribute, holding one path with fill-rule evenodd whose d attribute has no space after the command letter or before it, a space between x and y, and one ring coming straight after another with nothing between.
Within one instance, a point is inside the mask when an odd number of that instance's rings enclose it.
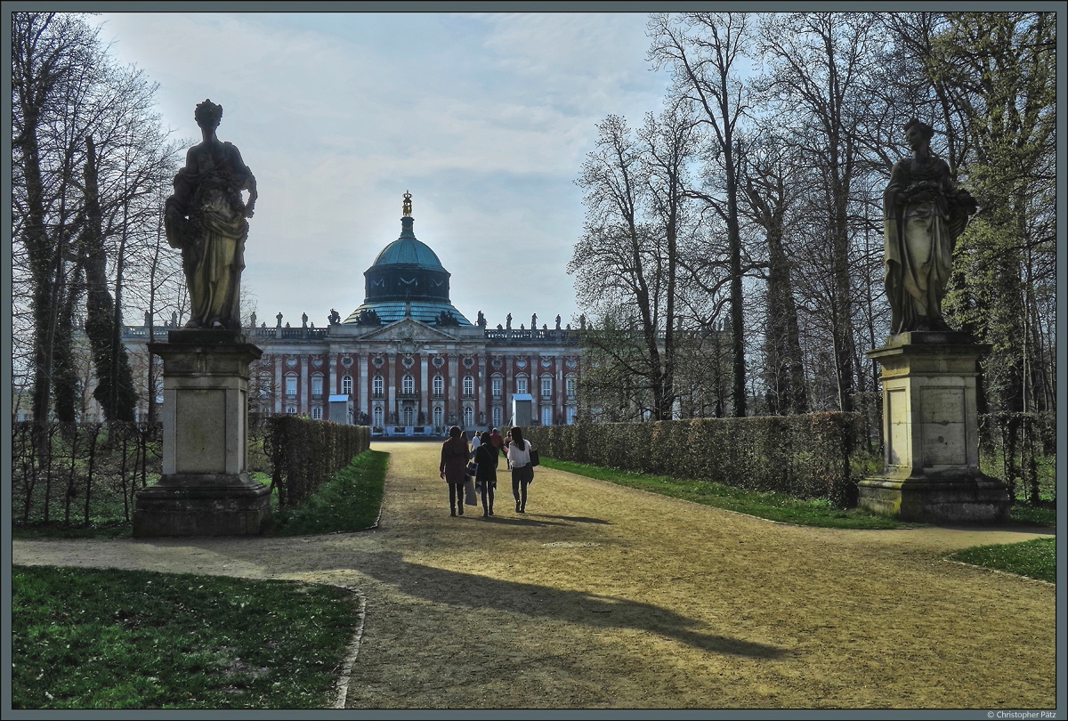
<instances>
[{"instance_id":1,"label":"long trimmed brownish hedge running along the path's right side","mask_svg":"<svg viewBox=\"0 0 1068 721\"><path fill-rule=\"evenodd\" d=\"M722 483L747 490L857 503L849 457L860 413L702 418L650 423L527 426L550 458Z\"/></svg>"}]
</instances>

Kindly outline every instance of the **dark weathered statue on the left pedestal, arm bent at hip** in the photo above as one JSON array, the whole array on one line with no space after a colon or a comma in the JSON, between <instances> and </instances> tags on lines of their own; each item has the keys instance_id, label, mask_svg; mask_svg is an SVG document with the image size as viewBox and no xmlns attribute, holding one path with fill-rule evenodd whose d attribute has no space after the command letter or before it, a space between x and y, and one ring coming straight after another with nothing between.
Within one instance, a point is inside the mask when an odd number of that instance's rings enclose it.
<instances>
[{"instance_id":1,"label":"dark weathered statue on the left pedestal, arm bent at hip","mask_svg":"<svg viewBox=\"0 0 1068 721\"><path fill-rule=\"evenodd\" d=\"M256 178L237 147L216 137L222 106L204 100L194 116L203 141L189 148L174 176L174 194L164 206L167 241L182 250L190 304L186 328L240 330L246 218L255 206ZM248 204L242 190L249 191Z\"/></svg>"}]
</instances>

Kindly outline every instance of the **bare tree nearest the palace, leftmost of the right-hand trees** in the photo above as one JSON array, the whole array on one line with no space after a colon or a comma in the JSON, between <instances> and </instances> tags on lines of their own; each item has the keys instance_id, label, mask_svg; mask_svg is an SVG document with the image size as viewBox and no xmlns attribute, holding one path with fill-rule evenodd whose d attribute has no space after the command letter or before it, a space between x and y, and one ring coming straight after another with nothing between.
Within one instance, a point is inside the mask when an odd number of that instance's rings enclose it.
<instances>
[{"instance_id":1,"label":"bare tree nearest the palace, leftmost of the right-hand trees","mask_svg":"<svg viewBox=\"0 0 1068 721\"><path fill-rule=\"evenodd\" d=\"M577 277L580 301L601 320L587 342L604 355L606 372L627 373L650 395L657 420L672 417L676 396L679 242L695 126L677 105L659 119L647 115L637 134L610 115L577 181L586 226L568 272Z\"/></svg>"}]
</instances>

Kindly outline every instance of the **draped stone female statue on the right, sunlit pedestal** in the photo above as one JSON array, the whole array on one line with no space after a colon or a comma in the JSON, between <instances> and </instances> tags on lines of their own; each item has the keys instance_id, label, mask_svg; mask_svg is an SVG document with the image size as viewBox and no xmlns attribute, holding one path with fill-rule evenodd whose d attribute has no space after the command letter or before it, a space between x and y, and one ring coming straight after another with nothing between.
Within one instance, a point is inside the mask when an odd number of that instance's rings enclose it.
<instances>
[{"instance_id":1,"label":"draped stone female statue on the right, sunlit pedestal","mask_svg":"<svg viewBox=\"0 0 1068 721\"><path fill-rule=\"evenodd\" d=\"M942 298L957 237L976 207L956 187L945 160L931 154L933 134L914 117L905 125L912 156L894 163L882 197L892 333L952 330L942 317Z\"/></svg>"}]
</instances>

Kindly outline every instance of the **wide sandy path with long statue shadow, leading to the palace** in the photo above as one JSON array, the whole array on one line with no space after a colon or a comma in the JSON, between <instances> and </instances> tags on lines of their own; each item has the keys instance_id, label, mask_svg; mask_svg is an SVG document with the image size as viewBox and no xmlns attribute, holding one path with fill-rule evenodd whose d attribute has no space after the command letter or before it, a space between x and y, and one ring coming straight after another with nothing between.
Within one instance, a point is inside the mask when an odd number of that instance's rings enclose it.
<instances>
[{"instance_id":1,"label":"wide sandy path with long statue shadow, leading to the palace","mask_svg":"<svg viewBox=\"0 0 1068 721\"><path fill-rule=\"evenodd\" d=\"M1014 529L785 526L540 470L451 518L438 449L389 443L381 526L289 538L15 540L17 564L340 583L349 707L1051 708L1052 584L943 557Z\"/></svg>"}]
</instances>

